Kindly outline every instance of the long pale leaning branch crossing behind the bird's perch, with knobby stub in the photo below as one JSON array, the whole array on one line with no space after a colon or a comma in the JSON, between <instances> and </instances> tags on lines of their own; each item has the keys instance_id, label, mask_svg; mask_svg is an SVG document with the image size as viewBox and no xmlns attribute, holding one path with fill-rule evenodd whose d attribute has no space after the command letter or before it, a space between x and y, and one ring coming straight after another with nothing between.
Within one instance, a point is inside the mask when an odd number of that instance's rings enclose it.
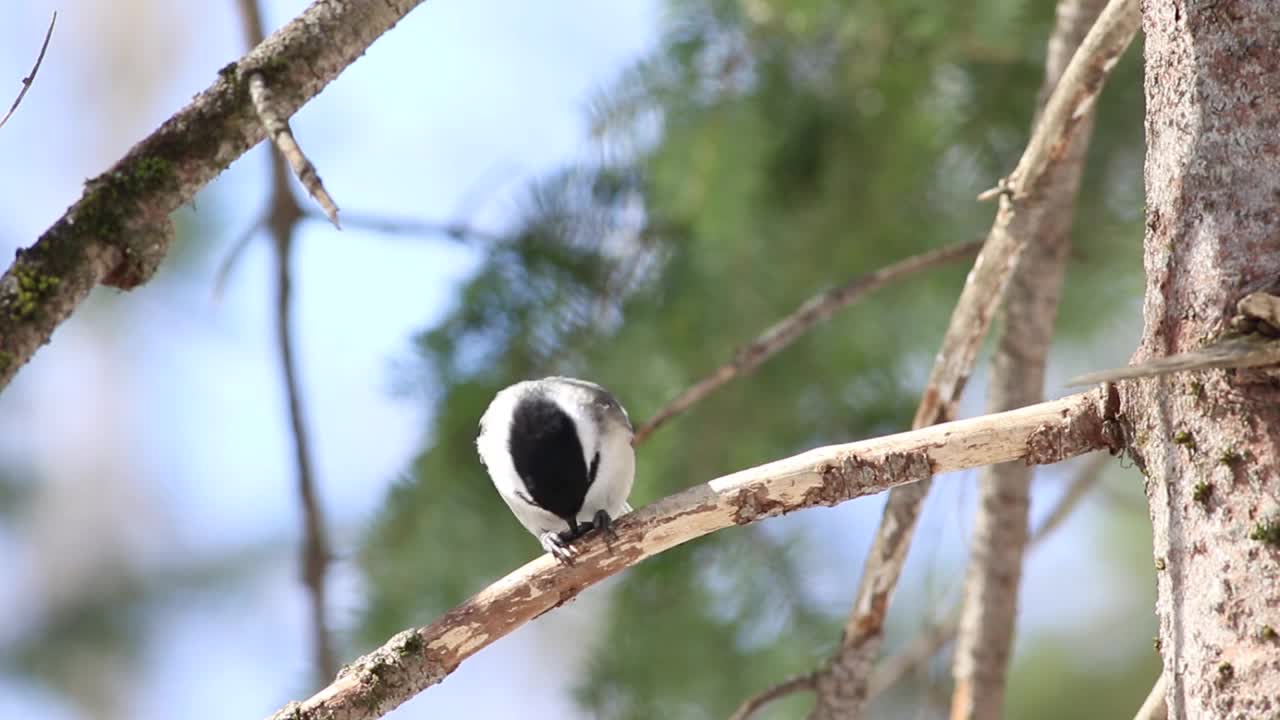
<instances>
[{"instance_id":1,"label":"long pale leaning branch crossing behind the bird's perch, with knobby stub","mask_svg":"<svg viewBox=\"0 0 1280 720\"><path fill-rule=\"evenodd\" d=\"M1137 0L1111 0L1098 22L1089 31L1062 79L1046 104L1042 122L1032 135L1032 145L1042 150L1023 155L1030 163L1019 163L1014 177L1018 193L1004 193L1000 210L987 243L974 263L965 287L951 315L951 324L942 340L928 386L916 409L914 428L922 428L955 416L955 404L973 372L978 348L991 325L991 318L1005 292L1014 265L1028 238L1014 228L1015 200L1032 205L1041 199L1039 183L1047 160L1059 161L1061 150L1079 129L1080 118L1062 118L1062 108L1075 109L1080 97L1094 97L1102 79L1115 65L1138 27ZM1123 42L1121 42L1123 40ZM1044 150L1047 149L1047 150ZM1046 159L1044 163L1037 158ZM1016 208L1025 213L1029 206ZM897 587L906 553L915 532L920 507L929 483L905 486L890 493L879 529L867 556L863 580L854 598L854 607L845 623L840 648L832 656L818 682L818 703L812 717L836 720L856 717L865 703L872 664L879 655L884 618L890 597Z\"/></svg>"}]
</instances>

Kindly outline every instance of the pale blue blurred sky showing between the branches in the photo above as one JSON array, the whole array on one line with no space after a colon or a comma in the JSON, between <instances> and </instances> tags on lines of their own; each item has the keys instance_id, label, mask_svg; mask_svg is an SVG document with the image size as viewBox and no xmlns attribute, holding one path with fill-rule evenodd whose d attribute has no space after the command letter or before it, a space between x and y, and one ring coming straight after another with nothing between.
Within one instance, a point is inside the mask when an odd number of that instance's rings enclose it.
<instances>
[{"instance_id":1,"label":"pale blue blurred sky showing between the branches","mask_svg":"<svg viewBox=\"0 0 1280 720\"><path fill-rule=\"evenodd\" d=\"M268 27L305 6L266 3ZM4 258L61 215L84 178L244 50L232 0L36 0L6 10L0 24L0 102L27 74L52 9L59 19L49 55L0 129ZM346 211L500 229L529 179L591 152L589 100L654 45L659 9L659 0L425 3L307 104L292 119L294 133ZM228 250L264 206L266 159L259 146L179 210L179 223L198 225L210 246L174 252L155 281L129 293L96 291L0 393L0 462L40 478L29 514L8 525L0 519L0 577L9 579L0 583L0 644L20 641L26 625L92 587L86 578L97 574L163 574L228 553L266 557L234 592L178 593L148 614L140 669L118 670L116 689L101 691L140 720L177 711L196 720L264 717L310 689L271 252L262 237L221 295L212 292ZM397 369L412 363L413 334L443 316L475 263L474 249L447 237L339 233L319 222L306 224L297 243L294 337L338 552L339 624L360 607L353 544L429 428L425 402L394 392ZM1130 325L1117 322L1116 333ZM1124 345L1116 347L1103 365L1123 364ZM1098 360L1056 368L1055 377ZM975 383L964 411L980 406ZM941 530L913 553L914 582L960 562L972 478L940 483L927 523ZM1034 511L1043 514L1053 496L1052 487L1038 493ZM879 501L859 502L777 523L867 529L878 512ZM826 580L815 575L832 603L847 602L855 578L846 570L868 536L842 548L844 564L826 569ZM1029 621L1060 618L1068 601L1055 591L1089 565L1082 542L1091 542L1082 532L1064 533L1032 565ZM954 589L950 579L938 582L938 593ZM589 647L576 638L590 638L605 592L589 592L483 651L392 717L577 716L563 691ZM534 662L566 646L576 650ZM0 716L88 715L0 671Z\"/></svg>"}]
</instances>

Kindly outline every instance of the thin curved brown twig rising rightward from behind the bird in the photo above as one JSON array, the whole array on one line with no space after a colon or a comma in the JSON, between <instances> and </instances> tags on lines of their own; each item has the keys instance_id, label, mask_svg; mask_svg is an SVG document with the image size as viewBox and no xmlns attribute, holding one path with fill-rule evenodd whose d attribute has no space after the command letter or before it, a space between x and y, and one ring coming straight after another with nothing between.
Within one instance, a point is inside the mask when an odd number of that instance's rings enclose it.
<instances>
[{"instance_id":1,"label":"thin curved brown twig rising rightward from behind the bird","mask_svg":"<svg viewBox=\"0 0 1280 720\"><path fill-rule=\"evenodd\" d=\"M787 347L818 323L852 305L859 299L887 284L910 277L915 273L938 265L972 258L982 247L980 241L963 242L922 252L905 260L899 260L872 273L859 275L845 284L810 297L790 315L778 320L760 333L749 345L733 354L733 359L717 368L712 374L690 386L673 400L662 406L636 430L636 445L644 442L668 420L689 410L708 395L716 392L739 375L751 373L780 350Z\"/></svg>"}]
</instances>

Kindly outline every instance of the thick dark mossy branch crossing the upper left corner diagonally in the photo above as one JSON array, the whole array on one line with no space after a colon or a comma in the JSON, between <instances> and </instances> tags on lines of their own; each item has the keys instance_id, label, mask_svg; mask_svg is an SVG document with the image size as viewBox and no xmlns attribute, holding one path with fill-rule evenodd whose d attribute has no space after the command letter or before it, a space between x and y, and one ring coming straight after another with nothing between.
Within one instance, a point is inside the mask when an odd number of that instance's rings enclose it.
<instances>
[{"instance_id":1,"label":"thick dark mossy branch crossing the upper left corner diagonally","mask_svg":"<svg viewBox=\"0 0 1280 720\"><path fill-rule=\"evenodd\" d=\"M291 117L421 3L314 3L88 181L81 199L0 277L0 389L91 290L146 282L173 237L169 214L262 141L250 74L273 83L278 111Z\"/></svg>"}]
</instances>

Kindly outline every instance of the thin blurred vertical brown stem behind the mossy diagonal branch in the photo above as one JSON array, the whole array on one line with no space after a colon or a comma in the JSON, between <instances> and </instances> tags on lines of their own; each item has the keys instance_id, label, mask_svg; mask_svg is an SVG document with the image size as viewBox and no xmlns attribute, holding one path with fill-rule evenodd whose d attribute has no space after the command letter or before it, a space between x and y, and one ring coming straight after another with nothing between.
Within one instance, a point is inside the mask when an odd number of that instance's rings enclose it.
<instances>
[{"instance_id":1,"label":"thin blurred vertical brown stem behind the mossy diagonal branch","mask_svg":"<svg viewBox=\"0 0 1280 720\"><path fill-rule=\"evenodd\" d=\"M262 14L257 0L241 0L241 17L243 20L246 38L251 46L262 41ZM255 74L253 78L260 76ZM259 83L262 88L265 85ZM252 78L251 78L252 92ZM297 355L293 348L293 297L292 297L292 264L294 233L298 222L303 218L302 208L293 197L289 188L289 174L284 167L282 155L287 155L284 145L279 142L280 128L271 128L264 108L269 108L270 99L255 96L255 106L262 123L268 126L268 132L276 140L280 152L271 154L271 200L262 222L255 223L237 242L232 256L224 263L229 268L234 263L236 255L247 245L253 231L265 227L274 241L275 247L275 338L280 354L280 373L284 380L284 392L289 407L289 430L293 438L293 461L297 470L298 503L302 511L302 552L301 571L302 582L307 588L307 597L311 601L311 643L312 662L320 682L326 682L338 673L338 661L333 650L328 623L328 570L329 570L329 537L325 529L324 511L320 507L319 492L316 491L315 469L311 460L310 441L307 439L306 413L302 404L302 387L298 383ZM269 110L270 111L270 110ZM275 122L279 123L278 115ZM288 136L288 126L283 133ZM292 143L292 136L288 137ZM288 143L285 143L288 145ZM296 149L297 145L293 143ZM301 152L301 151L300 151ZM308 163L310 165L310 163ZM319 178L316 178L319 182ZM305 182L303 182L305 184ZM328 196L326 196L328 197ZM221 277L221 274L220 274ZM220 284L220 283L219 283Z\"/></svg>"}]
</instances>

